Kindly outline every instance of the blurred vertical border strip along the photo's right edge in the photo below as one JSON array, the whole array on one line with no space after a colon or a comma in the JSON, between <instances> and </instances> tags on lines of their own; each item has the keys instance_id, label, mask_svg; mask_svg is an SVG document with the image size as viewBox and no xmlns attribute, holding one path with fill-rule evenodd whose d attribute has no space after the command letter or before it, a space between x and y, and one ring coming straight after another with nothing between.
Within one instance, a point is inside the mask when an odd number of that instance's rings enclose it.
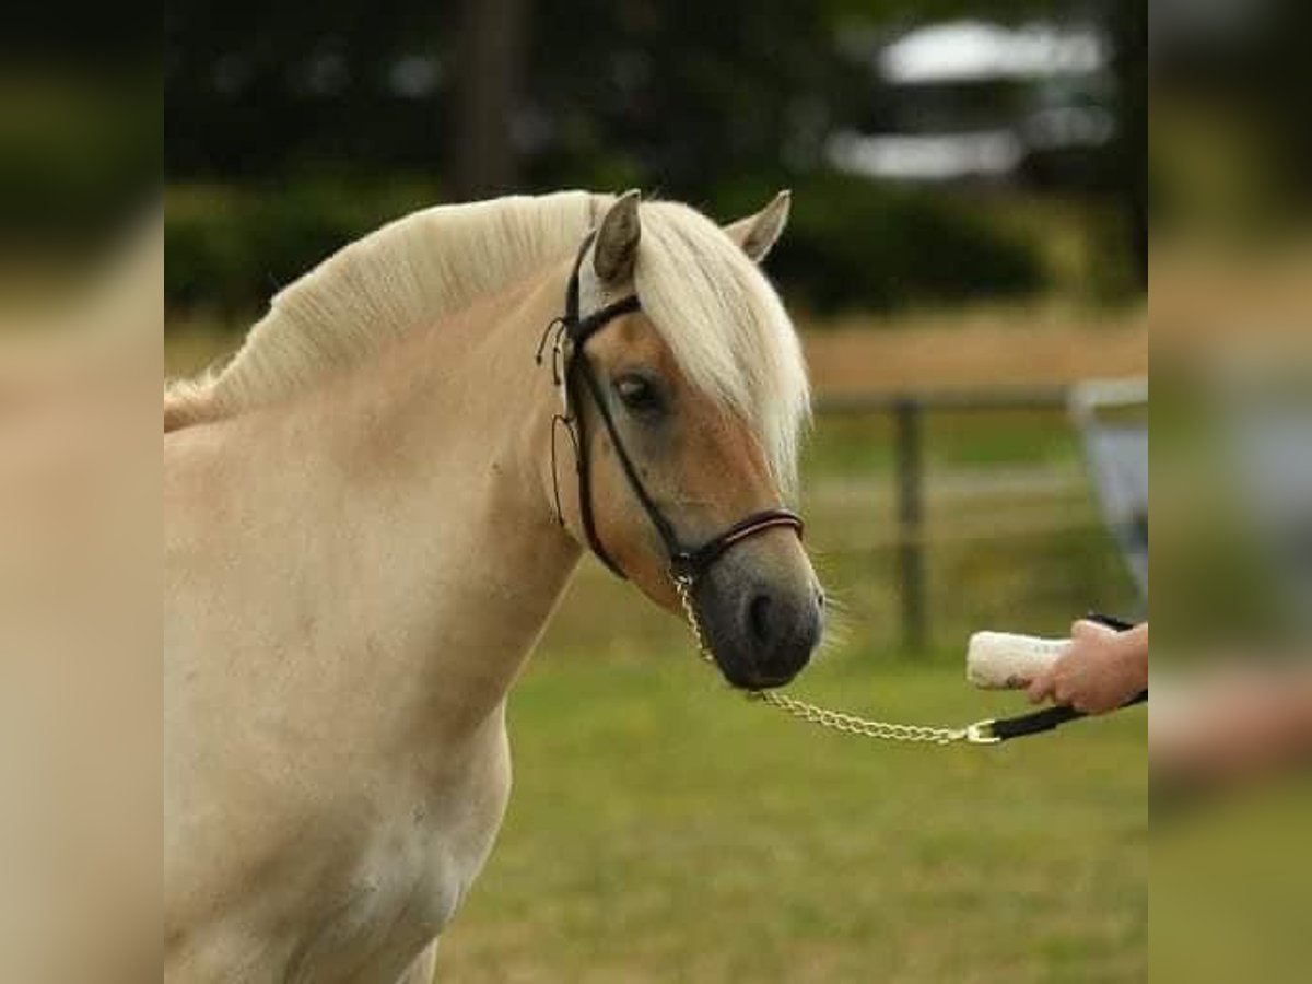
<instances>
[{"instance_id":1,"label":"blurred vertical border strip along the photo's right edge","mask_svg":"<svg viewBox=\"0 0 1312 984\"><path fill-rule=\"evenodd\" d=\"M1294 39L1305 37L1307 12L1151 9L1151 977L1302 980L1312 897L1312 130Z\"/></svg>"}]
</instances>

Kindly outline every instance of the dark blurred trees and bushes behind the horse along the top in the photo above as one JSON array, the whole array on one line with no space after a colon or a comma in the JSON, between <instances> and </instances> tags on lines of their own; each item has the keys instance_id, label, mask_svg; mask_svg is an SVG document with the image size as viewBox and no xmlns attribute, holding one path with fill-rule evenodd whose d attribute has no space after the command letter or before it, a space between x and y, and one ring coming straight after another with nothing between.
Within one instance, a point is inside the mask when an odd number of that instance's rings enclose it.
<instances>
[{"instance_id":1,"label":"dark blurred trees and bushes behind the horse along the top","mask_svg":"<svg viewBox=\"0 0 1312 984\"><path fill-rule=\"evenodd\" d=\"M165 10L168 302L247 312L350 237L446 201L581 186L693 202L728 219L796 192L773 262L819 311L1014 297L1050 286L1042 248L993 220L1014 189L891 186L823 161L872 92L845 38L974 16L1103 24L1134 45L1141 8L1101 0L174 0ZM1141 33L1141 31L1140 31ZM1136 105L1119 108L1134 121ZM1140 279L1141 127L1057 185ZM1050 163L1051 164L1051 163ZM1110 232L1109 232L1110 230Z\"/></svg>"}]
</instances>

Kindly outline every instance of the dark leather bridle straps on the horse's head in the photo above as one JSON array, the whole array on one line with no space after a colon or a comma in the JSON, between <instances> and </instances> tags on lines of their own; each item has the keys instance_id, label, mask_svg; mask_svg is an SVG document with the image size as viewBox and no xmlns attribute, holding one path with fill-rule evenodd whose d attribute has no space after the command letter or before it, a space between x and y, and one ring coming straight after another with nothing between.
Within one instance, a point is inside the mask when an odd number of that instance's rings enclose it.
<instances>
[{"instance_id":1,"label":"dark leather bridle straps on the horse's head","mask_svg":"<svg viewBox=\"0 0 1312 984\"><path fill-rule=\"evenodd\" d=\"M606 432L610 436L610 442L615 449L615 457L619 458L619 464L625 471L625 478L628 480L628 487L634 491L634 496L642 505L643 512L647 513L652 526L656 527L656 533L660 534L661 542L665 544L665 552L669 556L669 573L676 581L686 585L694 584L703 573L706 573L711 564L724 555L726 551L745 539L750 539L757 534L765 533L766 530L789 527L800 537L803 529L800 516L790 512L789 509L765 509L740 520L705 543L690 547L678 538L673 523L670 523L669 518L661 513L660 506L656 505L656 501L651 497L647 487L643 485L638 468L634 466L634 461L630 458L623 441L619 440L619 429L615 426L615 419L610 412L610 404L606 400L605 390L597 379L597 374L592 367L588 353L584 350L588 340L610 324L610 321L642 310L642 303L638 297L632 295L611 304L606 304L588 316L580 316L579 269L583 265L584 256L588 253L588 247L592 245L596 236L597 232L593 230L584 239L583 245L579 247L579 256L575 258L573 270L569 274L569 283L565 287L565 312L547 325L547 329L542 335L542 341L538 345L537 354L537 361L541 365L547 338L555 335L552 342L552 374L556 386L564 387L565 400L564 411L558 413L552 419L551 424L551 476L552 482L556 483L556 520L562 526L564 525L564 516L560 510L560 487L556 478L555 440L556 426L563 425L565 428L565 433L569 436L571 443L573 445L575 467L579 472L579 514L583 520L583 531L588 538L588 546L592 548L592 552L597 555L601 563L610 568L613 573L619 577L626 577L625 572L602 546L601 537L597 534L597 521L593 516L592 468L588 454L586 417L581 412L580 403L581 391L586 390L586 392L592 396L593 405L597 408L597 415L601 419L602 426L606 428ZM568 348L565 342L568 342Z\"/></svg>"}]
</instances>

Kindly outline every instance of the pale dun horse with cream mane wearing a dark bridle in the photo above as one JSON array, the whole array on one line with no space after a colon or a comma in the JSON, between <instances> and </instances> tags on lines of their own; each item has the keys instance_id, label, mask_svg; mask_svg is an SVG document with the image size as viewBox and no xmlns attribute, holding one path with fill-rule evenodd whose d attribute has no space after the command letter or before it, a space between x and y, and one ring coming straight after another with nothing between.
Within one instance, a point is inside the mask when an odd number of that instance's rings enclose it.
<instances>
[{"instance_id":1,"label":"pale dun horse with cream mane wearing a dark bridle","mask_svg":"<svg viewBox=\"0 0 1312 984\"><path fill-rule=\"evenodd\" d=\"M800 672L810 396L758 269L787 211L426 209L167 386L165 981L430 980L509 796L508 693L589 550L733 686Z\"/></svg>"}]
</instances>

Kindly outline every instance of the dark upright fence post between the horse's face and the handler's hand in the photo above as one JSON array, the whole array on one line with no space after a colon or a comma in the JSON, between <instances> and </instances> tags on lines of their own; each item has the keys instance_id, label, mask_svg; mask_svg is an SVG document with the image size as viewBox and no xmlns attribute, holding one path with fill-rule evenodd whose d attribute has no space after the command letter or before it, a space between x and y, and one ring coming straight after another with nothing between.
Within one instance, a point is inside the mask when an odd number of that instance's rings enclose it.
<instances>
[{"instance_id":1,"label":"dark upright fence post between the horse's face and the handler's hand","mask_svg":"<svg viewBox=\"0 0 1312 984\"><path fill-rule=\"evenodd\" d=\"M925 625L922 408L911 396L893 404L897 464L897 586L901 592L903 647L922 652Z\"/></svg>"}]
</instances>

